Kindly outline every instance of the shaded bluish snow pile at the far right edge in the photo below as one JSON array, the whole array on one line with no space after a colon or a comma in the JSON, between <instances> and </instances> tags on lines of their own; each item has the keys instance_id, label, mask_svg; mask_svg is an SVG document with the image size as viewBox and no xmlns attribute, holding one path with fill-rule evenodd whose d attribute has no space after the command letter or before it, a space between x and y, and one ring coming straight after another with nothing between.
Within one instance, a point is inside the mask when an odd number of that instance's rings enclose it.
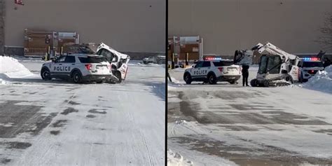
<instances>
[{"instance_id":1,"label":"shaded bluish snow pile at the far right edge","mask_svg":"<svg viewBox=\"0 0 332 166\"><path fill-rule=\"evenodd\" d=\"M332 93L332 65L309 78L307 83L303 84L303 88Z\"/></svg>"}]
</instances>

